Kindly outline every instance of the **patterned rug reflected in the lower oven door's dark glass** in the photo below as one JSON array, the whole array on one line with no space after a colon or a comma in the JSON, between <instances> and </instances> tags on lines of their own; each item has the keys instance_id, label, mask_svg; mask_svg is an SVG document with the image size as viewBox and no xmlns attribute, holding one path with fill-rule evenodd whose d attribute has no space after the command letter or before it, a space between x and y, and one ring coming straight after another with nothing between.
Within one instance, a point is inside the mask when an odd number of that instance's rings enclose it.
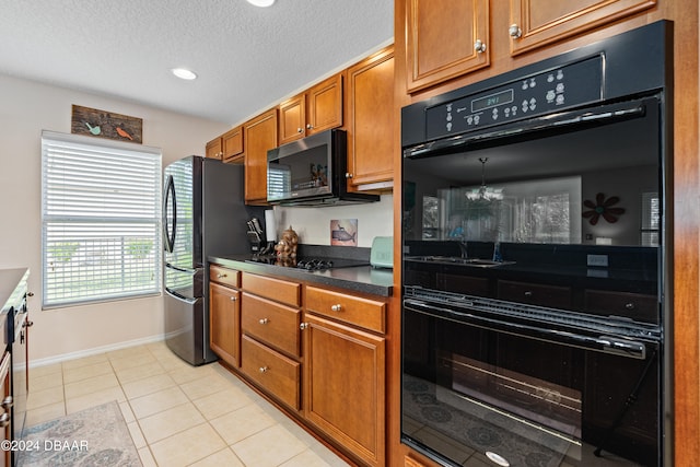
<instances>
[{"instance_id":1,"label":"patterned rug reflected in the lower oven door's dark glass","mask_svg":"<svg viewBox=\"0 0 700 467\"><path fill-rule=\"evenodd\" d=\"M436 397L438 387L428 381L405 374L402 387L404 413L413 425L442 433L445 440L466 446L467 451L503 454L511 467L556 467L564 457L567 442L542 432L539 440L527 439L508 417L479 410L476 405L446 404ZM419 441L423 433L430 436L423 429L411 436Z\"/></svg>"}]
</instances>

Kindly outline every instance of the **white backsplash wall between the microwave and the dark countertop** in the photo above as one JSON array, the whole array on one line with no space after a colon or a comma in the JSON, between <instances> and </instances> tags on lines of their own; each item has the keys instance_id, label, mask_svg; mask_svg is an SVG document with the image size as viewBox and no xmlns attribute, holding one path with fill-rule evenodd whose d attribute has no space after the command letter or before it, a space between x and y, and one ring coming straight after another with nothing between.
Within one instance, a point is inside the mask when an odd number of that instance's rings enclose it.
<instances>
[{"instance_id":1,"label":"white backsplash wall between the microwave and the dark countertop","mask_svg":"<svg viewBox=\"0 0 700 467\"><path fill-rule=\"evenodd\" d=\"M275 207L277 238L290 225L302 244L330 245L330 221L357 219L357 246L370 247L375 236L394 235L394 197L377 202L324 208Z\"/></svg>"}]
</instances>

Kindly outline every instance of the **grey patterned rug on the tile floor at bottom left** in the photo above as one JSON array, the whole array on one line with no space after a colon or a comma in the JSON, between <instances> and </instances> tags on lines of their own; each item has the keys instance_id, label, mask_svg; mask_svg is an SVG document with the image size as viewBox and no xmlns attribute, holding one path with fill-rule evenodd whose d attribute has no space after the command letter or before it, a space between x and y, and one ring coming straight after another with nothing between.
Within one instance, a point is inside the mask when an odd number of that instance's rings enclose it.
<instances>
[{"instance_id":1,"label":"grey patterned rug on the tile floor at bottom left","mask_svg":"<svg viewBox=\"0 0 700 467\"><path fill-rule=\"evenodd\" d=\"M142 467L117 401L24 430L21 467Z\"/></svg>"}]
</instances>

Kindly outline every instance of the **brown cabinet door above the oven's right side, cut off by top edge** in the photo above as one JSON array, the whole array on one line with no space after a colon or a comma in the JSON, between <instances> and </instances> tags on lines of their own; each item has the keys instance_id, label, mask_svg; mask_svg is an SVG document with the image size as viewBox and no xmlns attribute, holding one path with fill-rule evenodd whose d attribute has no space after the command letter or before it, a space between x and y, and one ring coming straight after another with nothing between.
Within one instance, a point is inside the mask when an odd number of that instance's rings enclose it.
<instances>
[{"instance_id":1,"label":"brown cabinet door above the oven's right side, cut off by top edge","mask_svg":"<svg viewBox=\"0 0 700 467\"><path fill-rule=\"evenodd\" d=\"M656 4L656 0L511 0L511 55L518 55Z\"/></svg>"}]
</instances>

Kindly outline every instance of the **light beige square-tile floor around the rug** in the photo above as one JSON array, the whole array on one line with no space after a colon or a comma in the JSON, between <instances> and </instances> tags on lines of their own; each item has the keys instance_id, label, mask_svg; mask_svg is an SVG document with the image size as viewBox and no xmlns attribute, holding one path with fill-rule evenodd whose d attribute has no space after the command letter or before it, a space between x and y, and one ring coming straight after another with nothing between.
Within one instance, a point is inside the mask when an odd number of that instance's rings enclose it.
<instances>
[{"instance_id":1,"label":"light beige square-tile floor around the rug","mask_svg":"<svg viewBox=\"0 0 700 467\"><path fill-rule=\"evenodd\" d=\"M115 399L144 467L347 466L219 363L163 342L31 369L26 425Z\"/></svg>"}]
</instances>

